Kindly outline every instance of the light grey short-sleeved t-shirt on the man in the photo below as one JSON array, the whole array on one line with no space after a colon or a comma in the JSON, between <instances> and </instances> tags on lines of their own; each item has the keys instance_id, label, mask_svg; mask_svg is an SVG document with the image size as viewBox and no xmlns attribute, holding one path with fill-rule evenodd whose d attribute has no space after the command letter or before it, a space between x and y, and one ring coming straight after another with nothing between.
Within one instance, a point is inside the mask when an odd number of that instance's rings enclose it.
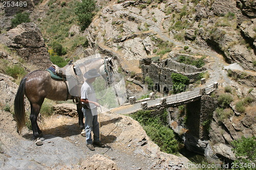
<instances>
[{"instance_id":1,"label":"light grey short-sleeved t-shirt on the man","mask_svg":"<svg viewBox=\"0 0 256 170\"><path fill-rule=\"evenodd\" d=\"M88 99L92 102L97 102L96 93L91 83L83 82L81 87L81 99ZM97 115L97 107L93 103L83 103L89 109L91 109L93 115Z\"/></svg>"}]
</instances>

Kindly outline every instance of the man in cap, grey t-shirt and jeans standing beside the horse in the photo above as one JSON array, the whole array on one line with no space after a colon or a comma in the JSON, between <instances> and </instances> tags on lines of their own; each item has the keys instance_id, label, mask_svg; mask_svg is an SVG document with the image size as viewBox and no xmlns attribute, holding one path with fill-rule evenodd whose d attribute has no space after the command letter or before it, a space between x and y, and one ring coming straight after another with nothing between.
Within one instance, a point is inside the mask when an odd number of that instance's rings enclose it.
<instances>
[{"instance_id":1,"label":"man in cap, grey t-shirt and jeans standing beside the horse","mask_svg":"<svg viewBox=\"0 0 256 170\"><path fill-rule=\"evenodd\" d=\"M81 87L81 102L82 102L82 112L84 117L86 118L85 122L85 130L86 130L86 143L89 150L94 151L94 145L98 145L98 147L104 148L105 145L101 143L99 139L99 123L98 123L98 111L97 107L99 104L97 103L96 94L92 83L95 81L96 77L100 76L97 73L96 69L91 69L86 74L83 75L86 78L86 81L82 84ZM92 134L93 131L93 139Z\"/></svg>"}]
</instances>

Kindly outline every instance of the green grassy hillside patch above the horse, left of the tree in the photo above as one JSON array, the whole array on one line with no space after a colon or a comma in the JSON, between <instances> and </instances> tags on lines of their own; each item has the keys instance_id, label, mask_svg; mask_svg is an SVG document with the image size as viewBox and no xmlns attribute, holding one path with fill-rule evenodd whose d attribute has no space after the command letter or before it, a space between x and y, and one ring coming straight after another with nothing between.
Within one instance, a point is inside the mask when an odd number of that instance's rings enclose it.
<instances>
[{"instance_id":1,"label":"green grassy hillside patch above the horse, left of the tree","mask_svg":"<svg viewBox=\"0 0 256 170\"><path fill-rule=\"evenodd\" d=\"M49 11L46 17L37 21L42 36L47 39L47 46L51 48L51 44L57 41L63 45L63 48L67 49L68 56L70 56L70 53L74 50L74 46L76 47L81 43L77 41L77 36L69 37L71 26L78 24L74 12L78 2L79 1L66 2L65 6L61 6L61 3L50 0L48 3Z\"/></svg>"}]
</instances>

